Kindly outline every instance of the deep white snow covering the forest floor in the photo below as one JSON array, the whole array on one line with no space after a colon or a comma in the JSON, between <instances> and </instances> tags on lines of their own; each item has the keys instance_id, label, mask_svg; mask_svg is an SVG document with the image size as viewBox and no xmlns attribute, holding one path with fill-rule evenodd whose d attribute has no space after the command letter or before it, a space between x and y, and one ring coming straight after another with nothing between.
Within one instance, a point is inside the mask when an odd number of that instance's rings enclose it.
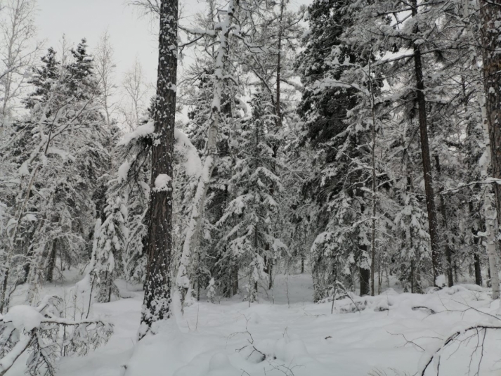
<instances>
[{"instance_id":1,"label":"deep white snow covering the forest floor","mask_svg":"<svg viewBox=\"0 0 501 376\"><path fill-rule=\"evenodd\" d=\"M492 302L490 291L476 285L429 294L388 289L332 306L313 304L311 275L305 273L278 275L273 293L250 306L238 296L195 302L181 323L167 320L157 335L137 343L143 294L120 281L119 287L126 299L93 307L115 325L108 344L87 356L63 358L58 375L415 375L453 332L478 324L501 327L499 300ZM443 351L440 375L501 375L501 330L490 329L485 337L470 330L458 339ZM436 365L426 375L436 375ZM20 376L20 369L7 375Z\"/></svg>"}]
</instances>

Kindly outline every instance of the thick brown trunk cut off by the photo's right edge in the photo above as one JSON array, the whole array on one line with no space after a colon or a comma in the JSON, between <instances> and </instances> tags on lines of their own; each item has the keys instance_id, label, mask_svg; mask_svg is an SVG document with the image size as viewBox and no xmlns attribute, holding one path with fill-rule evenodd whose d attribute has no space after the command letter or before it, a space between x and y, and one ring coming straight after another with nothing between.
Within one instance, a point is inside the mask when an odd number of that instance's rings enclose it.
<instances>
[{"instance_id":1,"label":"thick brown trunk cut off by the photo's right edge","mask_svg":"<svg viewBox=\"0 0 501 376\"><path fill-rule=\"evenodd\" d=\"M487 123L493 174L501 179L501 0L480 0L483 79L486 89ZM501 186L493 184L497 223L501 223Z\"/></svg>"}]
</instances>

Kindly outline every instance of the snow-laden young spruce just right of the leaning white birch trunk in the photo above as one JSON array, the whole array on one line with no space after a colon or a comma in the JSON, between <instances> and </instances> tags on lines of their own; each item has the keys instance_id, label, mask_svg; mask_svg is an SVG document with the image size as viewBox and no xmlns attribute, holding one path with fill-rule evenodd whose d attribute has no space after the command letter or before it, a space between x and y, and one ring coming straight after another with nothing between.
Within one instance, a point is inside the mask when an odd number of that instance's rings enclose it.
<instances>
[{"instance_id":1,"label":"snow-laden young spruce just right of the leaning white birch trunk","mask_svg":"<svg viewBox=\"0 0 501 376\"><path fill-rule=\"evenodd\" d=\"M248 265L249 294L256 299L259 280L268 280L272 262L285 244L277 236L280 193L282 183L273 172L277 164L273 151L275 127L273 111L256 93L252 100L252 119L242 127L242 148L231 178L231 200L219 220L219 225L232 223L223 241L240 265ZM233 219L233 221L231 221Z\"/></svg>"}]
</instances>

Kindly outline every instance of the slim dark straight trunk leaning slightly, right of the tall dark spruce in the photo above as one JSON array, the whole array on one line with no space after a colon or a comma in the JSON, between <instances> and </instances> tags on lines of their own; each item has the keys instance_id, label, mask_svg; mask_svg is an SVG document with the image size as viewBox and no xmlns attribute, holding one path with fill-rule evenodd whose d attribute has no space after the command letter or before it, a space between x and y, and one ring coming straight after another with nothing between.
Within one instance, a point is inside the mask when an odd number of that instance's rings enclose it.
<instances>
[{"instance_id":1,"label":"slim dark straight trunk leaning slightly, right of the tall dark spruce","mask_svg":"<svg viewBox=\"0 0 501 376\"><path fill-rule=\"evenodd\" d=\"M412 16L417 15L417 0L412 0ZM415 26L415 33L419 29L417 24ZM429 235L431 240L431 263L433 266L434 285L436 285L436 277L438 275L438 268L440 262L440 248L438 244L438 226L436 216L436 205L433 189L433 178L431 176L431 160L429 153L428 142L428 122L427 122L427 109L426 98L424 97L424 78L423 78L423 65L421 57L421 48L419 44L412 44L414 50L414 72L416 79L416 99L419 112L419 134L421 138L421 154L423 162L424 173L424 192L427 199L427 212L428 212L428 225Z\"/></svg>"}]
</instances>

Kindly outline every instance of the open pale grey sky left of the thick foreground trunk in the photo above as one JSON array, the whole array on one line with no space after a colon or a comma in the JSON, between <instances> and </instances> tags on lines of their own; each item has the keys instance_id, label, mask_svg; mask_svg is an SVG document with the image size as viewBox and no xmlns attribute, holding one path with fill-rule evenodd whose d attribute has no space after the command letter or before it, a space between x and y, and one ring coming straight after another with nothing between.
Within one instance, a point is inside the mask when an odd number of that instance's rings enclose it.
<instances>
[{"instance_id":1,"label":"open pale grey sky left of the thick foreground trunk","mask_svg":"<svg viewBox=\"0 0 501 376\"><path fill-rule=\"evenodd\" d=\"M202 5L202 4L200 4ZM108 30L114 48L117 77L129 70L138 56L148 80L153 83L157 69L156 22L142 16L124 0L38 0L37 27L46 47L58 49L63 34L71 44L87 39L96 48Z\"/></svg>"}]
</instances>

